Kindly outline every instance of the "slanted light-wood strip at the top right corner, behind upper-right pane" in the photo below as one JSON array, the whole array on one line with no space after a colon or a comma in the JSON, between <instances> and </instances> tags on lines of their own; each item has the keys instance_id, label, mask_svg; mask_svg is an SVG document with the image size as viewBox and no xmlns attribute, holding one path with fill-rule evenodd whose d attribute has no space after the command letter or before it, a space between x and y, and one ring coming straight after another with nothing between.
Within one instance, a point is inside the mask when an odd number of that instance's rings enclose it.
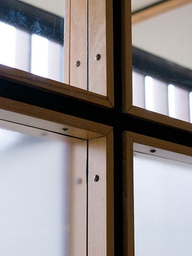
<instances>
[{"instance_id":1,"label":"slanted light-wood strip at the top right corner, behind upper-right pane","mask_svg":"<svg viewBox=\"0 0 192 256\"><path fill-rule=\"evenodd\" d=\"M132 25L164 12L192 3L191 0L168 0L132 14Z\"/></svg>"}]
</instances>

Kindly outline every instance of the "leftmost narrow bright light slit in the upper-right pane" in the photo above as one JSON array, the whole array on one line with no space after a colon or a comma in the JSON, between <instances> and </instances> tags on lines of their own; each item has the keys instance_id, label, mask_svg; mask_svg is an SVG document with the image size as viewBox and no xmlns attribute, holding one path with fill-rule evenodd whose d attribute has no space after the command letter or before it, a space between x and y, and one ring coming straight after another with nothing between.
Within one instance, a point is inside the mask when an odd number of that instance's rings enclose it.
<instances>
[{"instance_id":1,"label":"leftmost narrow bright light slit in the upper-right pane","mask_svg":"<svg viewBox=\"0 0 192 256\"><path fill-rule=\"evenodd\" d=\"M145 77L145 96L146 96L146 109L154 110L153 105L153 78L150 76Z\"/></svg>"}]
</instances>

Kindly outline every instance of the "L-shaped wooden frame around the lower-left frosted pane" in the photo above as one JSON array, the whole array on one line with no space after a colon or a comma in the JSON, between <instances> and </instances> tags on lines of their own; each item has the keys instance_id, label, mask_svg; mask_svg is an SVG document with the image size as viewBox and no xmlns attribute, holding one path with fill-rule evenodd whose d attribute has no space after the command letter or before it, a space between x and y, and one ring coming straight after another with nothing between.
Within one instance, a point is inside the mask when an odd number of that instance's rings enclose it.
<instances>
[{"instance_id":1,"label":"L-shaped wooden frame around the lower-left frosted pane","mask_svg":"<svg viewBox=\"0 0 192 256\"><path fill-rule=\"evenodd\" d=\"M0 97L0 119L87 140L88 255L114 255L112 127L3 97ZM96 174L99 182L94 182Z\"/></svg>"}]
</instances>

